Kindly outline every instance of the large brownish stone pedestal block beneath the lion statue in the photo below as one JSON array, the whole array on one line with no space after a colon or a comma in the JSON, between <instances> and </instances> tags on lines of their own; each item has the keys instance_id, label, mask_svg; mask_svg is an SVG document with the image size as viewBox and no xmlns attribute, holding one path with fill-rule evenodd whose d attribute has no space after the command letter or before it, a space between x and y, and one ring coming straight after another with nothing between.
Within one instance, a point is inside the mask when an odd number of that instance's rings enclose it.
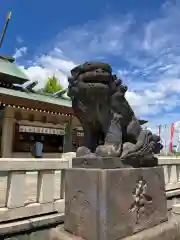
<instances>
[{"instance_id":1,"label":"large brownish stone pedestal block beneath the lion statue","mask_svg":"<svg viewBox=\"0 0 180 240\"><path fill-rule=\"evenodd\" d=\"M64 228L73 236L117 240L167 220L161 167L67 169L65 185Z\"/></svg>"}]
</instances>

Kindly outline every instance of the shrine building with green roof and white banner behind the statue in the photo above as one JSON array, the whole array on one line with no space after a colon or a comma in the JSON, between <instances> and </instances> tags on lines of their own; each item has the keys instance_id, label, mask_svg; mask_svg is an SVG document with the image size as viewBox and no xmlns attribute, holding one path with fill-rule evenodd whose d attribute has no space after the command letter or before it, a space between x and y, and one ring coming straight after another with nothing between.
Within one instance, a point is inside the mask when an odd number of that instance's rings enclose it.
<instances>
[{"instance_id":1,"label":"shrine building with green roof and white banner behind the statue","mask_svg":"<svg viewBox=\"0 0 180 240\"><path fill-rule=\"evenodd\" d=\"M82 127L70 99L37 93L35 85L13 58L0 56L0 157L32 157L39 140L44 158L60 158L82 145Z\"/></svg>"}]
</instances>

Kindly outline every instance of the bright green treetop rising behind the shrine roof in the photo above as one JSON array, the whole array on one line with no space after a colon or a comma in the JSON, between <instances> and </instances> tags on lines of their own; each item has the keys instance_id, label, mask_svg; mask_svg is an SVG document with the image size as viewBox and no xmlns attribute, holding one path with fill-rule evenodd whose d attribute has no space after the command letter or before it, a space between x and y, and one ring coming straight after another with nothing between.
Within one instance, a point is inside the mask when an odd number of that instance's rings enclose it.
<instances>
[{"instance_id":1,"label":"bright green treetop rising behind the shrine roof","mask_svg":"<svg viewBox=\"0 0 180 240\"><path fill-rule=\"evenodd\" d=\"M57 77L55 75L53 75L52 77L49 77L47 79L47 82L44 86L43 92L44 93L55 93L62 89L63 89L63 87L59 83Z\"/></svg>"}]
</instances>

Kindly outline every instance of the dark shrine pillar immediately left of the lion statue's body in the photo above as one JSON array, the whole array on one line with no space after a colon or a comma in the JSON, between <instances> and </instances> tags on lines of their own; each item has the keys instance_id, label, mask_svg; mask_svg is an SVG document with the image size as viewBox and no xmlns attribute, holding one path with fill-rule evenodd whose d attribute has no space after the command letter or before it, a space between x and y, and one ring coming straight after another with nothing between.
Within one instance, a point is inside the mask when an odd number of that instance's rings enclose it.
<instances>
[{"instance_id":1,"label":"dark shrine pillar immediately left of the lion statue's body","mask_svg":"<svg viewBox=\"0 0 180 240\"><path fill-rule=\"evenodd\" d=\"M66 125L63 152L72 152L72 116Z\"/></svg>"}]
</instances>

